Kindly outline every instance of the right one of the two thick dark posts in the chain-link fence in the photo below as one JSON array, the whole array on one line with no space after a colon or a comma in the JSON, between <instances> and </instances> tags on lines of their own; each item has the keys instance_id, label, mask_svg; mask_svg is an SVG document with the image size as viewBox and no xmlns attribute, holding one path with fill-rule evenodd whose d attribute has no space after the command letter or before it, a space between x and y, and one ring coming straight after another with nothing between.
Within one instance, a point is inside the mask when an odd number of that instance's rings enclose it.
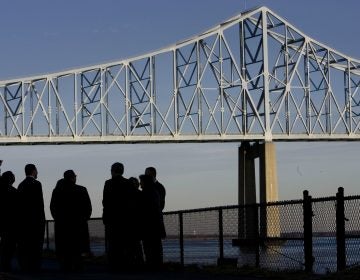
<instances>
[{"instance_id":1,"label":"right one of the two thick dark posts in the chain-link fence","mask_svg":"<svg viewBox=\"0 0 360 280\"><path fill-rule=\"evenodd\" d=\"M338 188L336 194L336 247L337 247L337 270L346 268L345 249L345 206L344 188Z\"/></svg>"}]
</instances>

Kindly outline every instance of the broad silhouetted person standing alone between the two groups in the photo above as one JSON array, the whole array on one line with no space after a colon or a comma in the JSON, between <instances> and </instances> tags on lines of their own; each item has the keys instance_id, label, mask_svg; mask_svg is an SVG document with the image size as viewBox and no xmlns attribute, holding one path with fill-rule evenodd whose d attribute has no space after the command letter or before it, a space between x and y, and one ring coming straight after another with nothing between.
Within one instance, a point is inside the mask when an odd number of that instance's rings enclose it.
<instances>
[{"instance_id":1,"label":"broad silhouetted person standing alone between the two groups","mask_svg":"<svg viewBox=\"0 0 360 280\"><path fill-rule=\"evenodd\" d=\"M82 254L89 252L92 207L88 191L76 184L73 170L64 172L51 196L51 215L55 220L56 255L63 271L82 268Z\"/></svg>"}]
</instances>

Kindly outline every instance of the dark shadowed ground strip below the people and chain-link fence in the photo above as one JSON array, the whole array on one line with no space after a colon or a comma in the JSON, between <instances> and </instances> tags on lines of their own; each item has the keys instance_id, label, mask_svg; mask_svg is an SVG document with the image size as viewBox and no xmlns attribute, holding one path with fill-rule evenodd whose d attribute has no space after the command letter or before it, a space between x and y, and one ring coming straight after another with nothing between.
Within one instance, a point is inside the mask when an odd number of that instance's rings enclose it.
<instances>
[{"instance_id":1,"label":"dark shadowed ground strip below the people and chain-link fence","mask_svg":"<svg viewBox=\"0 0 360 280\"><path fill-rule=\"evenodd\" d=\"M15 270L11 274L0 273L0 280L360 280L360 268L348 269L342 273L329 275L306 274L298 272L273 272L253 268L236 267L196 267L181 268L178 265L165 265L162 271L136 271L110 273L103 263L87 262L84 271L62 273L54 259L43 261L43 269L36 274L22 274Z\"/></svg>"}]
</instances>

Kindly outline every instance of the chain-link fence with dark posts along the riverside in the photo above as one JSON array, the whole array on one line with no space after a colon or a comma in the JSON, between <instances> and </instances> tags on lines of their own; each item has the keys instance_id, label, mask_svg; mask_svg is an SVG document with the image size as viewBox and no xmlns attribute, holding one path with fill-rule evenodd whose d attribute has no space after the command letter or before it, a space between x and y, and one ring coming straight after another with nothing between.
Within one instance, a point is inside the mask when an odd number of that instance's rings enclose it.
<instances>
[{"instance_id":1,"label":"chain-link fence with dark posts along the riverside","mask_svg":"<svg viewBox=\"0 0 360 280\"><path fill-rule=\"evenodd\" d=\"M344 270L360 265L359 203L360 196L344 197L340 188L326 198L304 193L302 200L166 212L164 261L317 273ZM251 221L244 222L244 216ZM244 235L249 228L252 233ZM92 252L105 255L102 219L92 218L89 231ZM54 249L52 220L47 221L45 239L46 247Z\"/></svg>"}]
</instances>

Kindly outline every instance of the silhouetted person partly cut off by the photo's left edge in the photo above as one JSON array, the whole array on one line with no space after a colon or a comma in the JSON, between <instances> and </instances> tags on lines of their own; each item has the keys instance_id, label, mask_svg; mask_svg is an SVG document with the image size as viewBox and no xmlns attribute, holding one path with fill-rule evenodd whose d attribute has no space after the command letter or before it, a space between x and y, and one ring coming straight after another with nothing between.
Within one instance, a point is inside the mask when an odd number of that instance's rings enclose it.
<instances>
[{"instance_id":1,"label":"silhouetted person partly cut off by the photo's left edge","mask_svg":"<svg viewBox=\"0 0 360 280\"><path fill-rule=\"evenodd\" d=\"M6 171L0 177L0 271L9 272L16 249L18 224L18 191L12 185L15 176Z\"/></svg>"}]
</instances>

